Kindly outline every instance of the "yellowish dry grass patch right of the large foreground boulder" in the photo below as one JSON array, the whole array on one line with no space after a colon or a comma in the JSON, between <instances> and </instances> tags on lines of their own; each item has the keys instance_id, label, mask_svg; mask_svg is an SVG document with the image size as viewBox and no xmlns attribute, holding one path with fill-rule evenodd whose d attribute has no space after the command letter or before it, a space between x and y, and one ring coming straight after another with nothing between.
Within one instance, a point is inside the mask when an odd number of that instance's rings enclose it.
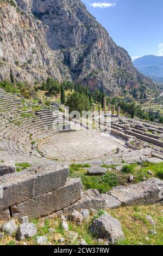
<instances>
[{"instance_id":1,"label":"yellowish dry grass patch right of the large foreground boulder","mask_svg":"<svg viewBox=\"0 0 163 256\"><path fill-rule=\"evenodd\" d=\"M117 218L125 235L120 245L163 245L163 206L159 204L120 207L108 210L112 217ZM149 224L146 216L151 216L155 227ZM150 230L156 230L152 235Z\"/></svg>"}]
</instances>

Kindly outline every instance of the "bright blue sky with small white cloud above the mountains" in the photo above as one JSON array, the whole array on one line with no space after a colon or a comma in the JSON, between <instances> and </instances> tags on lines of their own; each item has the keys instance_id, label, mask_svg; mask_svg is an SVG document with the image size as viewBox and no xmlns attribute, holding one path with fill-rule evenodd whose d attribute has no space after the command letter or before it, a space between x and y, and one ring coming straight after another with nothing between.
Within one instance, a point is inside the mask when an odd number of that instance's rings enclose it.
<instances>
[{"instance_id":1,"label":"bright blue sky with small white cloud above the mountains","mask_svg":"<svg viewBox=\"0 0 163 256\"><path fill-rule=\"evenodd\" d=\"M163 0L82 0L131 57L163 56Z\"/></svg>"}]
</instances>

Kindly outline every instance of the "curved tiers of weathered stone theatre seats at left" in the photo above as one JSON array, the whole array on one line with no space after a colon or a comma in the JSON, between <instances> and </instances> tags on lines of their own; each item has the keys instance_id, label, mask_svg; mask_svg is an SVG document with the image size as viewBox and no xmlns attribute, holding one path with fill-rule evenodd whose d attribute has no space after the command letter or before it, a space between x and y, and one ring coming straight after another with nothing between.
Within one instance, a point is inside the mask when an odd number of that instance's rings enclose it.
<instances>
[{"instance_id":1,"label":"curved tiers of weathered stone theatre seats at left","mask_svg":"<svg viewBox=\"0 0 163 256\"><path fill-rule=\"evenodd\" d=\"M32 110L23 111L22 99L0 88L0 150L27 156L32 153L32 141L53 135L56 130L52 129L52 118L49 117L52 110L44 110L41 118Z\"/></svg>"}]
</instances>

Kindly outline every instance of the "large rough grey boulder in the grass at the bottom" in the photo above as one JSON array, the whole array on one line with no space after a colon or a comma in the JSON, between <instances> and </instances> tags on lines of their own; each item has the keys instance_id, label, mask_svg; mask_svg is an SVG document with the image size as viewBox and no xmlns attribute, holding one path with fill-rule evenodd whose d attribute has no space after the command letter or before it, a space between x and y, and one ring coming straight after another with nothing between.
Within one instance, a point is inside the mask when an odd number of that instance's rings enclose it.
<instances>
[{"instance_id":1,"label":"large rough grey boulder in the grass at the bottom","mask_svg":"<svg viewBox=\"0 0 163 256\"><path fill-rule=\"evenodd\" d=\"M107 213L93 221L90 231L99 238L108 240L112 245L124 239L121 223Z\"/></svg>"}]
</instances>

